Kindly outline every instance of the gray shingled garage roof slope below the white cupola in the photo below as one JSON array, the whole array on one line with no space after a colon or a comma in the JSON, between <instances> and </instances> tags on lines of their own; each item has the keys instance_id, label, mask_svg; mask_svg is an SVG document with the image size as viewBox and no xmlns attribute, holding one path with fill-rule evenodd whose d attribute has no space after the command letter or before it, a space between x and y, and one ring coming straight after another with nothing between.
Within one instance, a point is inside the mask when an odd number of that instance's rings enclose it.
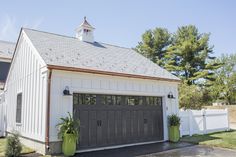
<instances>
[{"instance_id":1,"label":"gray shingled garage roof slope below the white cupola","mask_svg":"<svg viewBox=\"0 0 236 157\"><path fill-rule=\"evenodd\" d=\"M23 31L48 65L179 80L129 48L100 42L88 43L74 37L25 28Z\"/></svg>"}]
</instances>

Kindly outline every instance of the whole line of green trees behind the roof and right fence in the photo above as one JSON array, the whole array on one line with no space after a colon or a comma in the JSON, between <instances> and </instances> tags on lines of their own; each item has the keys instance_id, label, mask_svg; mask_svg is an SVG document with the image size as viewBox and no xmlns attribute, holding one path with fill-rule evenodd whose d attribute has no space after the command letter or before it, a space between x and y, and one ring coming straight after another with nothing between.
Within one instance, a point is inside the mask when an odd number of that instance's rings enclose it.
<instances>
[{"instance_id":1,"label":"whole line of green trees behind the roof and right fence","mask_svg":"<svg viewBox=\"0 0 236 157\"><path fill-rule=\"evenodd\" d=\"M196 26L147 30L135 50L181 78L179 104L199 109L213 102L236 102L236 54L214 56L210 33ZM235 67L235 68L234 68Z\"/></svg>"}]
</instances>

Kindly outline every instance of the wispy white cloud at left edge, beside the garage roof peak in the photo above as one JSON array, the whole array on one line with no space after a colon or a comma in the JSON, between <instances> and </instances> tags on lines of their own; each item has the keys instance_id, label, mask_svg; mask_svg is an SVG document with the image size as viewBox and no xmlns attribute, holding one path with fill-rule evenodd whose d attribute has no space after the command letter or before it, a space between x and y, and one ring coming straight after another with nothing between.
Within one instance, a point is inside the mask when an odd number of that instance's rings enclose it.
<instances>
[{"instance_id":1,"label":"wispy white cloud at left edge, beside the garage roof peak","mask_svg":"<svg viewBox=\"0 0 236 157\"><path fill-rule=\"evenodd\" d=\"M35 20L26 20L24 24L21 21L16 20L14 16L4 15L0 17L0 40L15 41L19 35L21 27L27 27L32 29L38 29L43 23L43 18L37 18Z\"/></svg>"}]
</instances>

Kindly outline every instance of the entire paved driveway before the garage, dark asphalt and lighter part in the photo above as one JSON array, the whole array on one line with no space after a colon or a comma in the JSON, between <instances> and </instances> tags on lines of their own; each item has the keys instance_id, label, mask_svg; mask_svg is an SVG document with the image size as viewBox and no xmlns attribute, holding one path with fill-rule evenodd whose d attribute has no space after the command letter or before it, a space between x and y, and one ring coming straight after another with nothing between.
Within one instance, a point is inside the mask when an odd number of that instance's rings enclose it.
<instances>
[{"instance_id":1,"label":"entire paved driveway before the garage, dark asphalt and lighter part","mask_svg":"<svg viewBox=\"0 0 236 157\"><path fill-rule=\"evenodd\" d=\"M25 157L41 157L28 154ZM186 142L159 143L97 152L79 153L76 157L236 157L236 150L192 145ZM50 157L64 157L56 155Z\"/></svg>"}]
</instances>

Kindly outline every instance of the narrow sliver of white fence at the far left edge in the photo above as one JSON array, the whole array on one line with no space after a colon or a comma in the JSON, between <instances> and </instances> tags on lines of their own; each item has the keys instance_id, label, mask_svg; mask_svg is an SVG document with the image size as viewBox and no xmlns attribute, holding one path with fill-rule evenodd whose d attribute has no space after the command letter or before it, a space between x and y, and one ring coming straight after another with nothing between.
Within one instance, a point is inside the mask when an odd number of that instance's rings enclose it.
<instances>
[{"instance_id":1,"label":"narrow sliver of white fence at the far left edge","mask_svg":"<svg viewBox=\"0 0 236 157\"><path fill-rule=\"evenodd\" d=\"M5 136L6 128L6 106L4 103L4 94L0 93L0 137Z\"/></svg>"}]
</instances>

